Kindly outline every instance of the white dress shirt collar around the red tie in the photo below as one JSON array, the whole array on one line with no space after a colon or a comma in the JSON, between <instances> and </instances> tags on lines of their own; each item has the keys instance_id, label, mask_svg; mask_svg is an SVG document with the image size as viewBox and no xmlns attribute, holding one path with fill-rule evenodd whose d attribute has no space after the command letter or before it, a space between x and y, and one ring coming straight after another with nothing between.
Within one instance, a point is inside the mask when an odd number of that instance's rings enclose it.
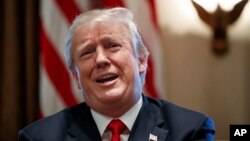
<instances>
[{"instance_id":1,"label":"white dress shirt collar around the red tie","mask_svg":"<svg viewBox=\"0 0 250 141\"><path fill-rule=\"evenodd\" d=\"M121 141L128 140L129 133L132 130L135 119L136 119L141 107L142 107L142 96L140 97L138 102L131 109L129 109L121 117L116 118L116 119L120 119L128 128L124 133L121 134L121 136L120 136ZM93 109L91 109L91 114L92 114L94 121L97 125L99 133L102 137L102 141L110 141L112 134L110 131L106 130L106 128L107 128L108 124L110 123L110 121L113 120L113 118L105 116L103 114L100 114L100 113L94 111Z\"/></svg>"}]
</instances>

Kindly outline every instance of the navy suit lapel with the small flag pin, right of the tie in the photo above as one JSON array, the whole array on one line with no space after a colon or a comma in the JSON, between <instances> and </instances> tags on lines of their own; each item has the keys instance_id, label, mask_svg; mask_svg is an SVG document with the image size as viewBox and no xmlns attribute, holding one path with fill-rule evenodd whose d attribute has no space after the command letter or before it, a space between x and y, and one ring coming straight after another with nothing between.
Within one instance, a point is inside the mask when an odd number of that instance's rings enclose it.
<instances>
[{"instance_id":1,"label":"navy suit lapel with the small flag pin, right of the tie","mask_svg":"<svg viewBox=\"0 0 250 141\"><path fill-rule=\"evenodd\" d=\"M164 141L168 132L160 109L143 96L143 106L131 130L129 141L147 141L150 140L150 134L151 139L157 137L157 141Z\"/></svg>"}]
</instances>

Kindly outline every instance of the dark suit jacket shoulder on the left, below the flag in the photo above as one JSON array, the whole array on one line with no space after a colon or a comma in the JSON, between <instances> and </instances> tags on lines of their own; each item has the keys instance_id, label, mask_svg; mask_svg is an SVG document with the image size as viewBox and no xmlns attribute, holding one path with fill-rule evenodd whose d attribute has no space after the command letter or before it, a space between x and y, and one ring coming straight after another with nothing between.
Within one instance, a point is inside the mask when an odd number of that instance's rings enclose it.
<instances>
[{"instance_id":1,"label":"dark suit jacket shoulder on the left, below the flag","mask_svg":"<svg viewBox=\"0 0 250 141\"><path fill-rule=\"evenodd\" d=\"M19 140L21 138L60 138L64 135L69 126L74 121L76 113L83 112L87 106L85 103L63 109L62 111L39 119L19 131ZM59 139L60 140L60 139Z\"/></svg>"}]
</instances>

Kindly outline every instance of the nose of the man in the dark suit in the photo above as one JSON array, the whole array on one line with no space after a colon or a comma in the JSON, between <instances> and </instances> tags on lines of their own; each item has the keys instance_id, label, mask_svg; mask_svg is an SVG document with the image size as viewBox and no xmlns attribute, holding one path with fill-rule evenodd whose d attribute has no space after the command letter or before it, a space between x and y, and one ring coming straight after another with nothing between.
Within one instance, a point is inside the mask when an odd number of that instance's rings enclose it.
<instances>
[{"instance_id":1,"label":"nose of the man in the dark suit","mask_svg":"<svg viewBox=\"0 0 250 141\"><path fill-rule=\"evenodd\" d=\"M98 47L96 49L96 67L97 68L105 68L110 65L110 60L105 52L105 49L102 47Z\"/></svg>"}]
</instances>

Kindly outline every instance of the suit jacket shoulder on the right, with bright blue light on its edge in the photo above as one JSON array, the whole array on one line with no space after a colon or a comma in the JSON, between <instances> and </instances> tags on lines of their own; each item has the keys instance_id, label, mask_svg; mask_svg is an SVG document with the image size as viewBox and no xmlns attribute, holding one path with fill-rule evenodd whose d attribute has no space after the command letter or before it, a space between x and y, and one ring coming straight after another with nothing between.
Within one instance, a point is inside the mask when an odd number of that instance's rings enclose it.
<instances>
[{"instance_id":1,"label":"suit jacket shoulder on the right, with bright blue light on its edge","mask_svg":"<svg viewBox=\"0 0 250 141\"><path fill-rule=\"evenodd\" d=\"M192 140L213 140L215 127L213 120L205 114L193 111L166 100L146 98L154 109L160 111L171 137L189 138Z\"/></svg>"}]
</instances>

